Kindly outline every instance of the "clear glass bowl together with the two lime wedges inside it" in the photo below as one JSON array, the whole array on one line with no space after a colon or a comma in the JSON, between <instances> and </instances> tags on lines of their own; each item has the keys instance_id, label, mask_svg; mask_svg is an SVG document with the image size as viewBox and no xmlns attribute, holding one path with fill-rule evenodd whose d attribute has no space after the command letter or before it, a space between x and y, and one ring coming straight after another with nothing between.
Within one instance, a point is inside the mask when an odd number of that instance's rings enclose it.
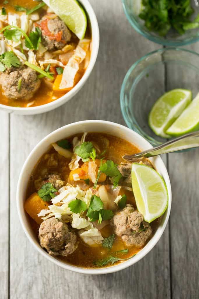
<instances>
[{"instance_id":1,"label":"clear glass bowl together with the two lime wedges inside it","mask_svg":"<svg viewBox=\"0 0 199 299\"><path fill-rule=\"evenodd\" d=\"M163 48L141 57L129 68L121 87L127 126L153 146L175 138L173 124L197 102L198 82L199 55L193 51ZM198 119L197 113L195 108L189 117ZM190 126L190 118L183 121L187 130L178 128L179 135L198 128Z\"/></svg>"}]
</instances>

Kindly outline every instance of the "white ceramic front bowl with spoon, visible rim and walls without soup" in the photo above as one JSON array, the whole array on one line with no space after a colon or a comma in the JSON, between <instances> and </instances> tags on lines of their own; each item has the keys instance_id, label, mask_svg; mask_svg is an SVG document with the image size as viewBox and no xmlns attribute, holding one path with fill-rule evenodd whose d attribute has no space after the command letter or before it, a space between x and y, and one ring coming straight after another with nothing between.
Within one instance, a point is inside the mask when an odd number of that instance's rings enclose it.
<instances>
[{"instance_id":1,"label":"white ceramic front bowl with spoon, visible rim and walls without soup","mask_svg":"<svg viewBox=\"0 0 199 299\"><path fill-rule=\"evenodd\" d=\"M143 258L158 242L163 231L166 227L166 224L169 219L169 214L171 210L171 185L169 181L169 176L166 170L166 167L160 157L151 158L153 165L155 166L158 173L163 177L166 182L166 186L169 193L169 204L166 212L163 214L162 221L160 226L158 227L157 231L155 232L152 239L146 244L146 246L141 249L134 257L131 259L120 263L115 266L110 266L107 268L102 269L86 269L81 267L72 266L66 263L63 263L61 260L58 260L52 256L50 256L44 249L41 248L38 239L34 236L30 224L27 219L26 212L24 211L24 201L26 199L26 189L28 180L32 173L34 166L36 165L37 161L43 155L47 149L49 148L50 144L56 142L60 139L67 138L71 135L75 135L77 133L83 132L104 132L110 135L114 135L120 138L123 138L132 144L135 144L140 149L148 149L151 147L148 141L146 141L143 137L128 129L125 126L121 126L117 123L112 123L104 120L85 120L80 121L77 123L71 123L67 126L61 127L56 131L50 133L47 137L39 142L39 144L32 150L30 155L25 161L25 164L21 170L18 186L17 186L17 208L18 208L18 215L21 222L21 225L24 229L25 234L27 235L30 242L33 246L48 260L55 263L58 266L61 266L64 269L84 273L84 274L106 274L115 271L119 271L121 269L127 268L136 262L138 262L141 258Z\"/></svg>"}]
</instances>

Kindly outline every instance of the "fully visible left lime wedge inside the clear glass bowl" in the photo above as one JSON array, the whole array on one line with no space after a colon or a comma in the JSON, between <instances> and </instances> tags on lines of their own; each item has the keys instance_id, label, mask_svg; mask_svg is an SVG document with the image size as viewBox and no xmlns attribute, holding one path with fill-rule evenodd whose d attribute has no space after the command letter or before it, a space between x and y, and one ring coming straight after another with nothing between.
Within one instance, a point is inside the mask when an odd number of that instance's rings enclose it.
<instances>
[{"instance_id":1,"label":"fully visible left lime wedge inside the clear glass bowl","mask_svg":"<svg viewBox=\"0 0 199 299\"><path fill-rule=\"evenodd\" d=\"M163 138L170 138L166 130L174 123L191 102L192 92L187 89L173 89L161 96L149 113L149 126Z\"/></svg>"}]
</instances>

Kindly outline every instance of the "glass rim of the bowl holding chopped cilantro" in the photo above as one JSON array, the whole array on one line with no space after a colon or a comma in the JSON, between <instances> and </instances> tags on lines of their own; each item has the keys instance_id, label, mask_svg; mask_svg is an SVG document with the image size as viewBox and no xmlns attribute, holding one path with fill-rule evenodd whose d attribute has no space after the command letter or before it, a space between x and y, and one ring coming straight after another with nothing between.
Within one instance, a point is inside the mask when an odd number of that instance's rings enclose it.
<instances>
[{"instance_id":1,"label":"glass rim of the bowl holding chopped cilantro","mask_svg":"<svg viewBox=\"0 0 199 299\"><path fill-rule=\"evenodd\" d=\"M161 37L159 38L158 36L152 36L150 33L143 32L140 28L138 28L137 22L135 22L135 19L131 18L129 16L129 13L127 11L127 6L126 6L126 0L122 0L122 5L123 5L124 13L127 17L127 20L131 24L132 28L134 28L138 33L140 33L142 36L146 37L147 39L151 40L152 42L156 42L159 45L180 47L180 46L184 46L184 45L190 45L194 42L199 41L199 34L198 34L198 37L194 37L189 40L184 40L184 41L178 42L178 41L173 41L171 39L161 39Z\"/></svg>"}]
</instances>

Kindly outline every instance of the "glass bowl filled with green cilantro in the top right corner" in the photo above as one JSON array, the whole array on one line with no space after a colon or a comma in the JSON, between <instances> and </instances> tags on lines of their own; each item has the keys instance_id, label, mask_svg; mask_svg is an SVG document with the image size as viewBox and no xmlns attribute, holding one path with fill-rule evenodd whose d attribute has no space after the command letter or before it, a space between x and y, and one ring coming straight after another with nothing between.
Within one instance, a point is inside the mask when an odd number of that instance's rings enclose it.
<instances>
[{"instance_id":1,"label":"glass bowl filled with green cilantro in the top right corner","mask_svg":"<svg viewBox=\"0 0 199 299\"><path fill-rule=\"evenodd\" d=\"M199 5L194 0L122 0L132 27L161 45L199 40Z\"/></svg>"}]
</instances>

